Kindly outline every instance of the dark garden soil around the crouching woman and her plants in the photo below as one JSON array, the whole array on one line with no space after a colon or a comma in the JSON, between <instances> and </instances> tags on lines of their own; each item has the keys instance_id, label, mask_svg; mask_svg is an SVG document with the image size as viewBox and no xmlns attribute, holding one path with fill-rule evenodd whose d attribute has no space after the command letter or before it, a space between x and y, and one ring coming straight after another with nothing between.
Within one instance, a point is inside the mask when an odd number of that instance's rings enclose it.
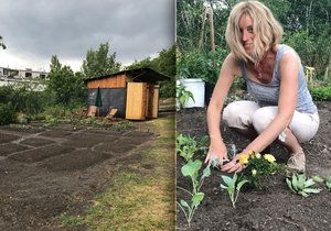
<instances>
[{"instance_id":1,"label":"dark garden soil around the crouching woman and her plants","mask_svg":"<svg viewBox=\"0 0 331 231\"><path fill-rule=\"evenodd\" d=\"M331 102L317 102L320 128L313 140L303 145L307 156L307 175L331 175ZM207 134L205 109L185 109L177 114L179 132L197 140ZM228 147L244 148L249 140L222 125L222 134ZM289 153L277 143L270 146L277 162L286 163ZM204 160L203 156L199 157ZM189 178L182 177L183 161L177 157L177 185L191 189ZM236 208L232 207L226 191L221 190L221 173L212 170L201 191L205 193L202 205L195 211L191 228L183 212L177 208L178 230L331 230L331 193L325 185L318 195L308 198L292 194L286 185L285 175L269 177L261 189L245 189L239 195ZM186 199L186 193L178 189L177 200Z\"/></svg>"}]
</instances>

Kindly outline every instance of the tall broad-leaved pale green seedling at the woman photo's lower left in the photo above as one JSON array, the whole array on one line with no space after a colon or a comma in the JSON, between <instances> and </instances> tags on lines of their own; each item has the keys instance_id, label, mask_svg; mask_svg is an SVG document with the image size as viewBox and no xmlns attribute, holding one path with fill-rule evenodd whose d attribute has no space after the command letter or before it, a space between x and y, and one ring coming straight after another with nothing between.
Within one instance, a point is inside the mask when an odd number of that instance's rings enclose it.
<instances>
[{"instance_id":1,"label":"tall broad-leaved pale green seedling at the woman photo's lower left","mask_svg":"<svg viewBox=\"0 0 331 231\"><path fill-rule=\"evenodd\" d=\"M211 168L210 166L207 166L204 168L202 176L199 177L199 170L201 167L202 167L202 162L200 160L195 160L194 162L190 160L189 163L182 166L181 168L182 175L184 177L190 177L192 182L192 191L178 187L179 189L190 195L191 202L189 204L183 199L181 199L180 202L177 201L177 205L184 212L189 227L191 226L191 220L194 216L197 206L202 202L204 198L204 193L201 193L200 188L203 185L203 180L205 179L205 177L209 177L211 175Z\"/></svg>"}]
</instances>

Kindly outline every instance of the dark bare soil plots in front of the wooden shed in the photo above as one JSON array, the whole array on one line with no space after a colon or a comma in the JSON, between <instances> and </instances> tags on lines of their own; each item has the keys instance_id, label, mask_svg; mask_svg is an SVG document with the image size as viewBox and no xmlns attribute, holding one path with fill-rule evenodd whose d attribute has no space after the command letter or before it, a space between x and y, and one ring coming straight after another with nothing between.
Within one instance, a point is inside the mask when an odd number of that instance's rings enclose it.
<instances>
[{"instance_id":1,"label":"dark bare soil plots in front of the wooden shed","mask_svg":"<svg viewBox=\"0 0 331 231\"><path fill-rule=\"evenodd\" d=\"M0 127L0 230L58 229L56 217L84 212L109 187L117 163L141 161L139 151L157 138L138 123L122 131Z\"/></svg>"}]
</instances>

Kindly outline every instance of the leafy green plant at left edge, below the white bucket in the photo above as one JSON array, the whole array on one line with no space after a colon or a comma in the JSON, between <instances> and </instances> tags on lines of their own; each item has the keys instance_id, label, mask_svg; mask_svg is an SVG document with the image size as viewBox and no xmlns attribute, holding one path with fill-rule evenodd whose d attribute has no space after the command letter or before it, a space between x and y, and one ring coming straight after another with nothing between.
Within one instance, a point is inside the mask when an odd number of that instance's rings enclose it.
<instances>
[{"instance_id":1,"label":"leafy green plant at left edge, below the white bucket","mask_svg":"<svg viewBox=\"0 0 331 231\"><path fill-rule=\"evenodd\" d=\"M195 140L190 135L177 135L175 144L177 153L185 160L185 163L192 160L194 153L197 150Z\"/></svg>"}]
</instances>

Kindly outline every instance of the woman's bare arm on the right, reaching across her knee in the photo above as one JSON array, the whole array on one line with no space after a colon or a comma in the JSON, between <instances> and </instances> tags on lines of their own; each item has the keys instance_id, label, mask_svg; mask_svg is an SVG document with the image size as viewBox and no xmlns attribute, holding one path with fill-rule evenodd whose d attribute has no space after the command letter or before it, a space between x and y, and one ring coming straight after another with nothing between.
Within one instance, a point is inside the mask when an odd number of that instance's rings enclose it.
<instances>
[{"instance_id":1,"label":"woman's bare arm on the right, reaching across her knee","mask_svg":"<svg viewBox=\"0 0 331 231\"><path fill-rule=\"evenodd\" d=\"M279 66L280 89L278 99L278 113L271 123L243 151L260 152L273 143L278 135L289 125L297 106L298 74L300 59L293 53L284 54ZM228 163L224 165L223 170L239 172L242 167L238 164Z\"/></svg>"}]
</instances>

